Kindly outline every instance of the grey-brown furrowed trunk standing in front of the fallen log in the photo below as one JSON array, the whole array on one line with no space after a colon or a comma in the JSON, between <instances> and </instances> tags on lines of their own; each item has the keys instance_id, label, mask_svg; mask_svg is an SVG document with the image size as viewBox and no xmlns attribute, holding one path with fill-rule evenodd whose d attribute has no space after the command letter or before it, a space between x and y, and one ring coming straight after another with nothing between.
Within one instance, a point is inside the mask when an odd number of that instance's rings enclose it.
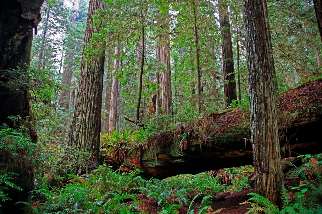
<instances>
[{"instance_id":1,"label":"grey-brown furrowed trunk standing in front of the fallen log","mask_svg":"<svg viewBox=\"0 0 322 214\"><path fill-rule=\"evenodd\" d=\"M281 157L270 44L262 0L243 0L255 190L280 206Z\"/></svg>"}]
</instances>

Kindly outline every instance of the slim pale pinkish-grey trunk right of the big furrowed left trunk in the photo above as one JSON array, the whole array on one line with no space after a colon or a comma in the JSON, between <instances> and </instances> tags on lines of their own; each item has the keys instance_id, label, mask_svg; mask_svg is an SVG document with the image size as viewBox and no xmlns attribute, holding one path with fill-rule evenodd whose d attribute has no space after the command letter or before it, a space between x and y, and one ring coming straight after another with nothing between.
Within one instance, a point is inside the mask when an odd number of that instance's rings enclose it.
<instances>
[{"instance_id":1,"label":"slim pale pinkish-grey trunk right of the big furrowed left trunk","mask_svg":"<svg viewBox=\"0 0 322 214\"><path fill-rule=\"evenodd\" d=\"M112 86L111 86L111 101L109 104L109 134L113 130L116 130L116 119L117 119L117 101L118 101L118 80L116 79L117 71L120 67L120 61L118 59L120 55L120 44L115 42L114 51L114 68L112 73Z\"/></svg>"}]
</instances>

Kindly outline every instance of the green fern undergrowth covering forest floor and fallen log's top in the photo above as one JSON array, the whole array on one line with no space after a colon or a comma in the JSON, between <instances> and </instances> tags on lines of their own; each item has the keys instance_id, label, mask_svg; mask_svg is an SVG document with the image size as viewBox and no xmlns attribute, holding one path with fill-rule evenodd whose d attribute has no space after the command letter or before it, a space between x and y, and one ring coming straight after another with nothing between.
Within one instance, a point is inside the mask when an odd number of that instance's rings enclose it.
<instances>
[{"instance_id":1,"label":"green fern undergrowth covering forest floor and fallen log's top","mask_svg":"<svg viewBox=\"0 0 322 214\"><path fill-rule=\"evenodd\" d=\"M307 87L294 89L296 94L294 96L291 94L282 94L282 96L285 96L288 103L297 102L297 97L303 93L309 97L317 84L321 83L321 80L317 80L308 83ZM303 109L302 114L314 110L314 106L316 106L314 102L318 101L315 100L315 96L311 97L312 99L309 99L310 102ZM300 99L303 99L303 96ZM243 107L242 103L238 106L234 106L232 103L231 110L213 114L210 116L213 117L212 122L221 120L222 116L227 118L230 115L233 119L238 112L247 111L246 101L244 103L246 107ZM279 103L280 106L282 104ZM290 110L287 109L287 111ZM296 111L291 113L295 114ZM136 154L137 161L140 161L140 153L142 154L143 150L148 150L153 157L157 147L148 147L149 140L168 134L171 134L171 139L174 139L177 146L184 150L188 135L186 130L189 127L192 129L195 126L198 127L198 123L201 121L200 119L191 123L189 121L177 122L170 129L167 127L162 130L155 126L148 126L147 129L140 131L125 129L121 133L113 131L111 135L101 136L101 155L113 157L115 163L118 162L117 164L124 162L125 152ZM231 125L231 120L224 121L223 125L226 123ZM186 207L189 213L213 213L221 211L212 210L211 198L213 196L222 192L233 193L247 190L252 186L249 179L253 173L252 166L228 168L196 175L177 175L164 180L156 178L145 180L140 177L139 170L122 172L121 168L115 170L107 164L100 165L93 174L79 177L71 175L70 157L71 153L77 151L68 147L56 136L48 134L53 129L56 130L53 125L48 127L43 126L38 132L37 143L33 143L28 138L25 127L17 126L12 129L3 126L0 129L2 168L10 169L10 165L6 165L7 163L13 165L24 163L33 166L36 174L32 201L29 203L20 202L26 205L26 213L178 213L180 206ZM186 130L180 129L180 127L185 127ZM45 129L48 131L44 131ZM207 133L206 129L195 128L195 130L197 129L200 129L200 133ZM173 132L176 135L173 135ZM167 138L164 141L166 142L166 140ZM251 193L253 202L246 202L251 206L249 213L260 211L267 213L322 213L319 207L322 205L322 159L320 156L310 155L300 156L298 159L303 161L299 165L295 165L293 162L283 162L283 164L287 163L290 166L290 170L285 172L284 176L296 177L299 183L282 187L284 204L282 210L277 210L267 199ZM21 190L20 187L12 183L15 175L11 171L0 172L0 199L2 202L10 200L10 194L6 193L8 189ZM195 202L198 200L200 203L196 205Z\"/></svg>"}]
</instances>

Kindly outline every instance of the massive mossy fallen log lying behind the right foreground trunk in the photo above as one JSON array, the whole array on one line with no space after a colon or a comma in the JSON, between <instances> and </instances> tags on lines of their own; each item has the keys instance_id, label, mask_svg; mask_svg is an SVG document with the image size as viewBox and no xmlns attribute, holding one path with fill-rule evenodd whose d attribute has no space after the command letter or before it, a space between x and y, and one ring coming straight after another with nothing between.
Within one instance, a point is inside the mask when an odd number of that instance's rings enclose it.
<instances>
[{"instance_id":1,"label":"massive mossy fallen log lying behind the right foreground trunk","mask_svg":"<svg viewBox=\"0 0 322 214\"><path fill-rule=\"evenodd\" d=\"M322 80L280 94L277 105L282 156L321 153ZM163 179L252 165L250 138L247 108L213 113L147 139L138 155L135 150L125 152L123 166Z\"/></svg>"}]
</instances>

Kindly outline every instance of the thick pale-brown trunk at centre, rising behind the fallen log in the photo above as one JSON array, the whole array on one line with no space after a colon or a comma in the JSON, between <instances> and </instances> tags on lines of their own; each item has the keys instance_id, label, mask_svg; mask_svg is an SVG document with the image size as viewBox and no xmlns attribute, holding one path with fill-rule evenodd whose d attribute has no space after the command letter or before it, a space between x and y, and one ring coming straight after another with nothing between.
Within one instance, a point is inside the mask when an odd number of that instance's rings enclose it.
<instances>
[{"instance_id":1,"label":"thick pale-brown trunk at centre, rising behind the fallen log","mask_svg":"<svg viewBox=\"0 0 322 214\"><path fill-rule=\"evenodd\" d=\"M172 109L172 91L171 91L171 67L170 67L170 38L169 38L169 20L168 15L160 21L160 29L163 35L160 36L160 59L159 62L165 67L160 72L159 81L161 91L161 107L163 114L171 114Z\"/></svg>"}]
</instances>

